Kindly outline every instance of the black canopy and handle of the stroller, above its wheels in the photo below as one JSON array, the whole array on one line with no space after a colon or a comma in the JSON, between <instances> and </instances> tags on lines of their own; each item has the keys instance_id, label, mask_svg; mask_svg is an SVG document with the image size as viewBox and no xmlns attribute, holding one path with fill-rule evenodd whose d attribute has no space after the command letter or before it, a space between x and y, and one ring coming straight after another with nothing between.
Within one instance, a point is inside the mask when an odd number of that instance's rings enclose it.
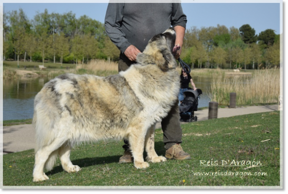
<instances>
[{"instance_id":1,"label":"black canopy and handle of the stroller, above its wheels","mask_svg":"<svg viewBox=\"0 0 288 194\"><path fill-rule=\"evenodd\" d=\"M196 104L196 100L198 100L198 96L202 94L202 91L200 89L197 90L187 90L184 92L185 98L183 102L179 105L179 111L180 112L186 112L191 107L193 107Z\"/></svg>"}]
</instances>

